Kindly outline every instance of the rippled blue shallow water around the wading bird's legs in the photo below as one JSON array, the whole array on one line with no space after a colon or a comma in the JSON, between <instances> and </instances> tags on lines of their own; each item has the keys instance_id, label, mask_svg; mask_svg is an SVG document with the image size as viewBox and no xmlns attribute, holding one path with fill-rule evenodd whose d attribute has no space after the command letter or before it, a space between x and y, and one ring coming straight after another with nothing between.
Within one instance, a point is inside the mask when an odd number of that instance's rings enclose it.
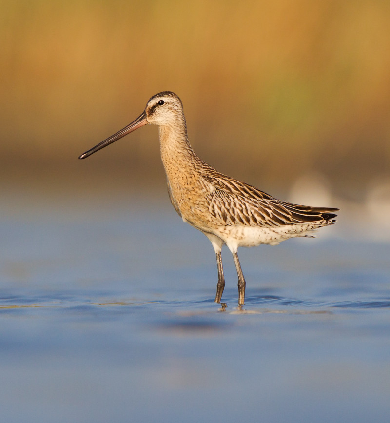
<instances>
[{"instance_id":1,"label":"rippled blue shallow water around the wading bird's legs","mask_svg":"<svg viewBox=\"0 0 390 423\"><path fill-rule=\"evenodd\" d=\"M0 220L9 422L388 422L390 243L324 228L242 249L247 280L166 199L14 196ZM24 202L25 201L25 202Z\"/></svg>"}]
</instances>

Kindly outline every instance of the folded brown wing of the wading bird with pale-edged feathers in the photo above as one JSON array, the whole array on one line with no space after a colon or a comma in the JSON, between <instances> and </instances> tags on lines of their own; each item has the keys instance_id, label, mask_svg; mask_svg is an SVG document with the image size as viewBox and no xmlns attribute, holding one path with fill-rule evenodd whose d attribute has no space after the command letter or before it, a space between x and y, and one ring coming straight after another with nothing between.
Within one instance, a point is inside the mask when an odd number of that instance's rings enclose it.
<instances>
[{"instance_id":1,"label":"folded brown wing of the wading bird with pale-edged feathers","mask_svg":"<svg viewBox=\"0 0 390 423\"><path fill-rule=\"evenodd\" d=\"M210 213L227 225L275 227L328 221L336 208L291 204L273 198L252 185L224 175L205 177L214 190L207 196Z\"/></svg>"}]
</instances>

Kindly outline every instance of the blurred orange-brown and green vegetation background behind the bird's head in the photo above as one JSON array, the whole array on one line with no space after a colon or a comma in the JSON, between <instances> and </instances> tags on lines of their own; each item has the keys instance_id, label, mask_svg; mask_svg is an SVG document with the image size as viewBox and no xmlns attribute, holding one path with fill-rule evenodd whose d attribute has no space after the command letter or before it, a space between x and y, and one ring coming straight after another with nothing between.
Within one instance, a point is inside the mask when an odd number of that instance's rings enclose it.
<instances>
[{"instance_id":1,"label":"blurred orange-brown and green vegetation background behind the bird's head","mask_svg":"<svg viewBox=\"0 0 390 423\"><path fill-rule=\"evenodd\" d=\"M153 127L77 157L172 90L218 170L358 193L390 176L389 22L386 0L2 0L2 175L162 180Z\"/></svg>"}]
</instances>

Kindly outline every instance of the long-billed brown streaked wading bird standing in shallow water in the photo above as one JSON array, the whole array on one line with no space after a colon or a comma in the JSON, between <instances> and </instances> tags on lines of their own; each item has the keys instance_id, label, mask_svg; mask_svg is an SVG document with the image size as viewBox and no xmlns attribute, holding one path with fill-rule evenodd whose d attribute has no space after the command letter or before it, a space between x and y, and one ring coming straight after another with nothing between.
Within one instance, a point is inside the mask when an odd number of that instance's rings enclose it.
<instances>
[{"instance_id":1,"label":"long-billed brown streaked wading bird standing in shallow water","mask_svg":"<svg viewBox=\"0 0 390 423\"><path fill-rule=\"evenodd\" d=\"M135 121L79 159L85 159L150 123L159 127L161 159L172 205L183 221L202 231L214 247L218 268L215 302L221 302L225 286L221 258L224 244L233 254L238 275L238 304L243 305L245 279L238 260L238 247L276 245L292 237L312 236L313 230L336 222L333 212L337 208L277 200L254 186L217 172L200 160L187 138L183 105L170 91L153 96Z\"/></svg>"}]
</instances>

